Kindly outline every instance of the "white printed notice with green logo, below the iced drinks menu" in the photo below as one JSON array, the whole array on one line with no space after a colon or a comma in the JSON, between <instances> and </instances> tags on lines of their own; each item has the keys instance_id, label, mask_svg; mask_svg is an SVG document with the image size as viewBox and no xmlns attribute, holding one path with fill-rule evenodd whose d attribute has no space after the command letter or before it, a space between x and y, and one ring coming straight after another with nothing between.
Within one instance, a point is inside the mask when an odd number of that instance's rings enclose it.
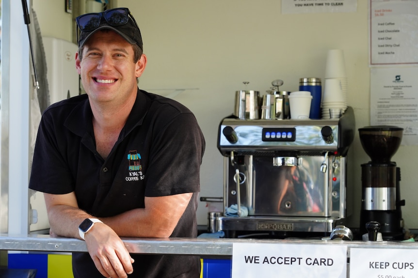
<instances>
[{"instance_id":1,"label":"white printed notice with green logo, below the iced drinks menu","mask_svg":"<svg viewBox=\"0 0 418 278\"><path fill-rule=\"evenodd\" d=\"M370 124L403 128L402 145L418 145L418 67L371 68Z\"/></svg>"}]
</instances>

